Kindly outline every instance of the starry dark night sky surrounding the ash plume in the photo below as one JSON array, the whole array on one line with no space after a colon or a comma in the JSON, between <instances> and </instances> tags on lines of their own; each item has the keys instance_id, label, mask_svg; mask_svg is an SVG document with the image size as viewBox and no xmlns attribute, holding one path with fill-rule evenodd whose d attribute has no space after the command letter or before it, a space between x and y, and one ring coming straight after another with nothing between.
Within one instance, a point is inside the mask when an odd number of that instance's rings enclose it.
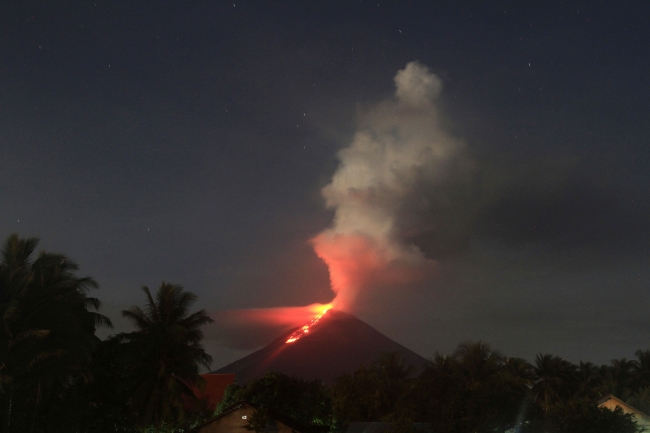
<instances>
[{"instance_id":1,"label":"starry dark night sky surrounding the ash plume","mask_svg":"<svg viewBox=\"0 0 650 433\"><path fill-rule=\"evenodd\" d=\"M650 3L233 1L0 6L0 235L78 262L110 332L163 280L215 318L331 301L321 190L416 61L455 147L392 233L435 272L351 312L426 357L650 347Z\"/></svg>"}]
</instances>

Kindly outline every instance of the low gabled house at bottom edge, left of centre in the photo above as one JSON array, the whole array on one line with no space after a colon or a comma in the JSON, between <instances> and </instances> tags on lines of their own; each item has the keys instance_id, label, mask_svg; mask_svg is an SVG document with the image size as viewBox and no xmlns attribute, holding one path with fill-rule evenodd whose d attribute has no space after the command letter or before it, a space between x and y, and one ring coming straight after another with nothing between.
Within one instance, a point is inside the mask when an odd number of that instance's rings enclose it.
<instances>
[{"instance_id":1,"label":"low gabled house at bottom edge, left of centre","mask_svg":"<svg viewBox=\"0 0 650 433\"><path fill-rule=\"evenodd\" d=\"M191 433L250 433L245 427L256 410L263 406L240 401L226 408L222 413L190 430ZM313 433L291 418L268 410L268 417L275 421L273 433Z\"/></svg>"}]
</instances>

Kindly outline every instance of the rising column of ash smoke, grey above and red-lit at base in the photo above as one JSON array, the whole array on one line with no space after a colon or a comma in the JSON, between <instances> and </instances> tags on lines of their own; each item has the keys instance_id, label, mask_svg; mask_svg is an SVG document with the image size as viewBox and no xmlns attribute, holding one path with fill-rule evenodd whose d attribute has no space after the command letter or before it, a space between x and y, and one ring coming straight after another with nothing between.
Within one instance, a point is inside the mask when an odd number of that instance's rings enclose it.
<instances>
[{"instance_id":1,"label":"rising column of ash smoke, grey above and red-lit at base","mask_svg":"<svg viewBox=\"0 0 650 433\"><path fill-rule=\"evenodd\" d=\"M440 127L435 103L442 83L435 74L411 62L395 84L395 97L362 117L322 190L334 222L311 242L329 268L337 309L352 309L360 290L412 282L435 266L404 241L399 218L414 203L427 206L418 191L443 176L461 143Z\"/></svg>"}]
</instances>

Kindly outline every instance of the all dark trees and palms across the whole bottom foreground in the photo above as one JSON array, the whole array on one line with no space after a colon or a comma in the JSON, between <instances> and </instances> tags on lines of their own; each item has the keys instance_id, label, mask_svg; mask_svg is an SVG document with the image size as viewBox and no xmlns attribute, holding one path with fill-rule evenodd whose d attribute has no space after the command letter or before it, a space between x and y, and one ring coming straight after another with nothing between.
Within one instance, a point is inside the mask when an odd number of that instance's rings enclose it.
<instances>
[{"instance_id":1,"label":"all dark trees and palms across the whole bottom foreground","mask_svg":"<svg viewBox=\"0 0 650 433\"><path fill-rule=\"evenodd\" d=\"M37 243L12 235L0 253L0 431L182 432L211 415L192 392L211 362L201 346L211 320L190 311L195 295L144 287L144 306L123 311L135 330L102 341L95 331L111 322L89 296L97 283L63 255L35 255ZM650 350L635 358L596 366L539 354L530 364L465 343L420 372L384 354L331 387L270 373L229 387L217 413L248 400L331 431L385 421L395 432L426 422L436 433L632 433L629 415L596 401L611 393L650 412ZM268 419L260 413L251 431Z\"/></svg>"}]
</instances>

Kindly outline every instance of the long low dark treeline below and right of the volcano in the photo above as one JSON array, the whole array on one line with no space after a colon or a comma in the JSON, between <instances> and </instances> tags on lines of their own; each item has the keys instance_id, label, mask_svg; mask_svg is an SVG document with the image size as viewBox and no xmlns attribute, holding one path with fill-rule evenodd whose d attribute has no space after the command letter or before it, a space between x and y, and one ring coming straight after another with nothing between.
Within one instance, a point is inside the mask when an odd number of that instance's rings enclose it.
<instances>
[{"instance_id":1,"label":"long low dark treeline below and right of the volcano","mask_svg":"<svg viewBox=\"0 0 650 433\"><path fill-rule=\"evenodd\" d=\"M632 433L638 429L630 415L599 408L597 400L611 393L648 410L649 354L637 351L636 360L600 367L540 354L529 364L482 342L465 343L449 356L436 354L415 375L391 353L339 377L331 389L278 373L233 385L217 413L247 400L333 431L355 421L383 421L395 432L423 422L436 433Z\"/></svg>"}]
</instances>

